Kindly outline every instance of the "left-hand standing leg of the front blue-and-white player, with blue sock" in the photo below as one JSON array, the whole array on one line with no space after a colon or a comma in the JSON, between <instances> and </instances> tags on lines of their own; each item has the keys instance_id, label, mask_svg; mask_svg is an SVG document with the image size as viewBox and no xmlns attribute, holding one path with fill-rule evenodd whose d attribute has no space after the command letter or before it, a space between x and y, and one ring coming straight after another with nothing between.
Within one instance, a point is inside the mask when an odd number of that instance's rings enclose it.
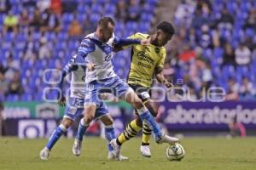
<instances>
[{"instance_id":1,"label":"left-hand standing leg of the front blue-and-white player, with blue sock","mask_svg":"<svg viewBox=\"0 0 256 170\"><path fill-rule=\"evenodd\" d=\"M79 122L79 129L73 144L73 155L80 156L82 153L82 141L84 133L90 125L90 122L94 119L96 113L96 105L86 104L84 105L83 115L84 117Z\"/></svg>"}]
</instances>

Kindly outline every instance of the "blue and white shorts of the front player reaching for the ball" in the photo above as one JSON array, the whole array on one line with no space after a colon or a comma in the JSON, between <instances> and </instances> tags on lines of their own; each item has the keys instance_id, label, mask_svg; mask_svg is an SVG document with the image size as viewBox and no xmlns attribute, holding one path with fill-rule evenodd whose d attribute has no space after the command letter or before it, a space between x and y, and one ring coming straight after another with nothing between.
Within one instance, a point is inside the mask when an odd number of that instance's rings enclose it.
<instances>
[{"instance_id":1,"label":"blue and white shorts of the front player reaching for the ball","mask_svg":"<svg viewBox=\"0 0 256 170\"><path fill-rule=\"evenodd\" d=\"M93 104L98 107L103 101L100 94L108 93L120 97L131 90L131 87L118 76L88 82L85 84L84 105Z\"/></svg>"}]
</instances>

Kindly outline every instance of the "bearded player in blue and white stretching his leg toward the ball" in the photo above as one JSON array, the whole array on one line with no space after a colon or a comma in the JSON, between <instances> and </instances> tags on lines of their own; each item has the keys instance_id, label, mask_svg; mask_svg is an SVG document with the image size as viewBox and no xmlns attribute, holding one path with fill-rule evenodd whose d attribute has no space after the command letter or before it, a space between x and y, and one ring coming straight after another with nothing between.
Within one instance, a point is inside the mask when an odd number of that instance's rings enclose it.
<instances>
[{"instance_id":1,"label":"bearded player in blue and white stretching his leg toward the ball","mask_svg":"<svg viewBox=\"0 0 256 170\"><path fill-rule=\"evenodd\" d=\"M175 143L178 139L170 137L160 131L159 125L154 117L143 105L134 90L123 82L113 71L111 59L113 58L113 47L119 48L132 44L147 45L147 39L119 39L113 34L114 21L109 17L103 17L98 21L96 32L84 37L81 42L78 57L84 59L84 64L90 64L86 68L85 76L85 97L84 97L84 118L79 123L78 135L74 141L74 147L81 150L82 136L88 125L96 116L96 111L102 108L102 93L111 92L119 99L124 99L130 103L138 113L138 116L147 123L153 130L154 139L157 143ZM166 41L166 40L165 40ZM105 104L103 104L105 107ZM120 145L117 139L111 140L115 150L116 159L120 159Z\"/></svg>"}]
</instances>

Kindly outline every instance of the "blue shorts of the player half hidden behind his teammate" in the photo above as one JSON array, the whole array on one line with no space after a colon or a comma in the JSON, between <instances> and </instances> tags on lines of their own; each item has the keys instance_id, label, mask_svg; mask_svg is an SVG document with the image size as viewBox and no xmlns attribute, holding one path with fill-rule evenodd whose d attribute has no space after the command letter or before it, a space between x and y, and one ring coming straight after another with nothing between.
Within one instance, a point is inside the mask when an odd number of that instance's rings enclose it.
<instances>
[{"instance_id":1,"label":"blue shorts of the player half hidden behind his teammate","mask_svg":"<svg viewBox=\"0 0 256 170\"><path fill-rule=\"evenodd\" d=\"M79 116L83 115L84 111L84 99L72 98L69 97L67 106L65 109L64 117L67 117L73 121L75 121ZM96 108L95 119L107 115L109 113L107 105L105 103L101 103Z\"/></svg>"}]
</instances>

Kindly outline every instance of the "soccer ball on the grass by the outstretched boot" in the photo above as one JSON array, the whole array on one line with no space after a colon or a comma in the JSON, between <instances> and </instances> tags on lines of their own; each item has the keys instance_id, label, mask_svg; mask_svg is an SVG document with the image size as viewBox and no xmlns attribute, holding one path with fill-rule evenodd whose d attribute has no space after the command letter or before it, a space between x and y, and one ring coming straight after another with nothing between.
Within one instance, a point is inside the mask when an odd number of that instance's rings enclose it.
<instances>
[{"instance_id":1,"label":"soccer ball on the grass by the outstretched boot","mask_svg":"<svg viewBox=\"0 0 256 170\"><path fill-rule=\"evenodd\" d=\"M185 150L181 144L170 144L166 148L166 158L169 161L181 161L185 156Z\"/></svg>"}]
</instances>

